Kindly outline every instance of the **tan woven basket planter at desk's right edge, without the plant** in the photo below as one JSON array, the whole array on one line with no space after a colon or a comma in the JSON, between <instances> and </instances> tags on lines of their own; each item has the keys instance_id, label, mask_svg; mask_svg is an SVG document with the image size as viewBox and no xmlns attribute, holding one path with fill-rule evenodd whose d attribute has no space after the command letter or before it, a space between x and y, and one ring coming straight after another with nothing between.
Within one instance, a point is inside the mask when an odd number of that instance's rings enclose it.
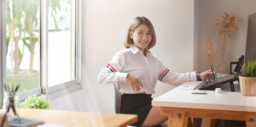
<instances>
[{"instance_id":1,"label":"tan woven basket planter at desk's right edge, without the plant","mask_svg":"<svg viewBox=\"0 0 256 127\"><path fill-rule=\"evenodd\" d=\"M240 91L243 96L256 96L256 77L239 76Z\"/></svg>"}]
</instances>

